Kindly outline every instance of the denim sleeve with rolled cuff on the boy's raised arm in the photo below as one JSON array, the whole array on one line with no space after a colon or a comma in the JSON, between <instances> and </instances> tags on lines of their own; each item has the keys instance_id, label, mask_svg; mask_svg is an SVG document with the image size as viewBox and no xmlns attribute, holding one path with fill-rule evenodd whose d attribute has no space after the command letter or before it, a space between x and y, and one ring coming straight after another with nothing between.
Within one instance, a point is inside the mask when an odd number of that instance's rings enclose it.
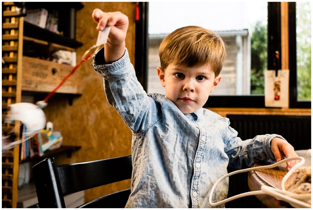
<instances>
[{"instance_id":1,"label":"denim sleeve with rolled cuff on the boy's raised arm","mask_svg":"<svg viewBox=\"0 0 313 210\"><path fill-rule=\"evenodd\" d=\"M136 78L127 49L117 61L105 64L104 49L93 57L92 67L103 78L106 98L133 132L140 132L155 120L157 105Z\"/></svg>"}]
</instances>

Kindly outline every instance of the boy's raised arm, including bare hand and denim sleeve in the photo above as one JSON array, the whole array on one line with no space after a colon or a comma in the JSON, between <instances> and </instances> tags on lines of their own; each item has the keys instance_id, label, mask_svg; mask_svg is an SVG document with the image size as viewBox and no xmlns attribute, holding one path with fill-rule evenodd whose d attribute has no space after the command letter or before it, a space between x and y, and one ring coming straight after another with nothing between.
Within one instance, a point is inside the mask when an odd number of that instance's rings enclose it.
<instances>
[{"instance_id":1,"label":"boy's raised arm, including bare hand and denim sleeve","mask_svg":"<svg viewBox=\"0 0 313 210\"><path fill-rule=\"evenodd\" d=\"M101 49L93 56L92 66L104 80L110 106L132 131L140 132L156 120L157 111L155 101L147 96L129 59L125 46L128 17L121 12L105 13L95 9L92 18L98 23L99 31L111 27L104 51Z\"/></svg>"}]
</instances>

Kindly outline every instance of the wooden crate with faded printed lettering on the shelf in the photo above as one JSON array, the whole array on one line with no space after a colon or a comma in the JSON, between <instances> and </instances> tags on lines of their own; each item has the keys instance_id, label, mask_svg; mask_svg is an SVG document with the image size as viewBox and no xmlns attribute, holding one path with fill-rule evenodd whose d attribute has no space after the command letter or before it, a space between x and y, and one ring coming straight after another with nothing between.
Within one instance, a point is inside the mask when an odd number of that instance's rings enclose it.
<instances>
[{"instance_id":1,"label":"wooden crate with faded printed lettering on the shelf","mask_svg":"<svg viewBox=\"0 0 313 210\"><path fill-rule=\"evenodd\" d=\"M69 74L73 66L23 56L22 90L50 92ZM77 75L71 75L57 93L77 94Z\"/></svg>"}]
</instances>

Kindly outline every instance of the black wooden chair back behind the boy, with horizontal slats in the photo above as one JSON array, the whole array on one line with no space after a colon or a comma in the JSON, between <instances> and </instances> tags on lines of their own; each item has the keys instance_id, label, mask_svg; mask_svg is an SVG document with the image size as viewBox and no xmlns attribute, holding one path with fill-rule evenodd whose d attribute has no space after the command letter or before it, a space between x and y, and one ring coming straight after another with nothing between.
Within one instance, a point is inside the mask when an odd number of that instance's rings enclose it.
<instances>
[{"instance_id":1,"label":"black wooden chair back behind the boy, with horizontal slats","mask_svg":"<svg viewBox=\"0 0 313 210\"><path fill-rule=\"evenodd\" d=\"M54 158L46 158L33 166L39 207L65 208L64 195L130 179L131 172L131 156L60 166ZM125 207L129 195L130 189L126 189L80 207Z\"/></svg>"}]
</instances>

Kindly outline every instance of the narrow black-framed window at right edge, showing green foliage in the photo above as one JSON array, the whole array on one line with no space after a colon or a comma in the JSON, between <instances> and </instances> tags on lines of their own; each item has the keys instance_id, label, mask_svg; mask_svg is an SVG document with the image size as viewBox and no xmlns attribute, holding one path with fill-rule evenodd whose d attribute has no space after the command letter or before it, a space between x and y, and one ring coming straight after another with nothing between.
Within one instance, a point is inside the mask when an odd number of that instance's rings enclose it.
<instances>
[{"instance_id":1,"label":"narrow black-framed window at right edge, showing green foliage","mask_svg":"<svg viewBox=\"0 0 313 210\"><path fill-rule=\"evenodd\" d=\"M289 2L290 107L311 107L311 3Z\"/></svg>"}]
</instances>

